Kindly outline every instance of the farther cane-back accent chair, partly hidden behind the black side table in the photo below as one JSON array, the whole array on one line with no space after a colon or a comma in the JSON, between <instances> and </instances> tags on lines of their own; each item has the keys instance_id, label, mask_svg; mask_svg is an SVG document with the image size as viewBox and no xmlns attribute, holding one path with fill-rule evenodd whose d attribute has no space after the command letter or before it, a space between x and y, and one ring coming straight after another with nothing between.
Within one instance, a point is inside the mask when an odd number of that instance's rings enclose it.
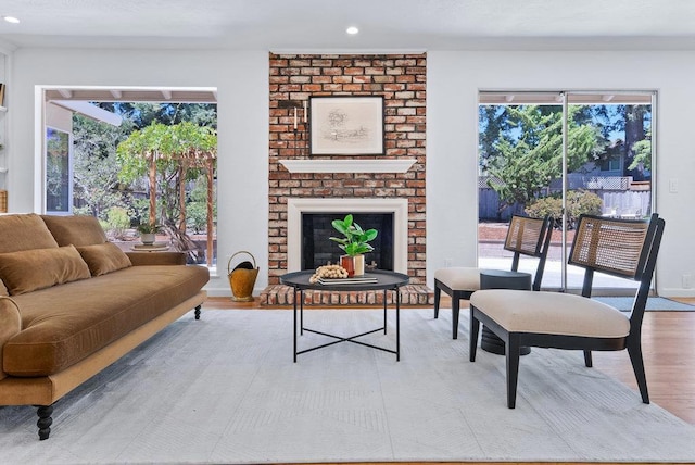
<instances>
[{"instance_id":1,"label":"farther cane-back accent chair, partly hidden behind the black side table","mask_svg":"<svg viewBox=\"0 0 695 465\"><path fill-rule=\"evenodd\" d=\"M530 218L514 215L509 222L507 237L504 241L504 249L514 252L514 259L511 260L513 272L518 269L521 255L539 259L533 279L533 290L541 289L545 257L553 231L551 227L552 221L549 216ZM439 318L439 301L442 291L444 291L452 298L452 332L454 339L458 338L460 300L470 299L470 296L480 289L480 272L483 269L478 267L448 267L434 272L434 318Z\"/></svg>"}]
</instances>

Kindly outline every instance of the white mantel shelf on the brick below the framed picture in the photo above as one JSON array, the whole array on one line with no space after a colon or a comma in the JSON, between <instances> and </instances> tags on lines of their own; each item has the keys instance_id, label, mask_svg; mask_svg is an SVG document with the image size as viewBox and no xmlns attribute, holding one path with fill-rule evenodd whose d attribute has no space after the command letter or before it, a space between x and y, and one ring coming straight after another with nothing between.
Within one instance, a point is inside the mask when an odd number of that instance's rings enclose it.
<instances>
[{"instance_id":1,"label":"white mantel shelf on the brick below the framed picture","mask_svg":"<svg viewBox=\"0 0 695 465\"><path fill-rule=\"evenodd\" d=\"M290 173L406 173L416 159L280 160Z\"/></svg>"}]
</instances>

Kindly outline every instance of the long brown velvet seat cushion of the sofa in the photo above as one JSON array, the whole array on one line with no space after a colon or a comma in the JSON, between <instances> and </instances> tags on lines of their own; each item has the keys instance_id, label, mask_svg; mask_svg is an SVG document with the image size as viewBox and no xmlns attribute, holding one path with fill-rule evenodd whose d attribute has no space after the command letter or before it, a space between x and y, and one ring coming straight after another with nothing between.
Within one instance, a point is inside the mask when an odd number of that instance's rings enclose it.
<instances>
[{"instance_id":1,"label":"long brown velvet seat cushion of the sofa","mask_svg":"<svg viewBox=\"0 0 695 465\"><path fill-rule=\"evenodd\" d=\"M23 330L3 349L12 376L59 373L195 296L203 266L130 266L17 296Z\"/></svg>"}]
</instances>

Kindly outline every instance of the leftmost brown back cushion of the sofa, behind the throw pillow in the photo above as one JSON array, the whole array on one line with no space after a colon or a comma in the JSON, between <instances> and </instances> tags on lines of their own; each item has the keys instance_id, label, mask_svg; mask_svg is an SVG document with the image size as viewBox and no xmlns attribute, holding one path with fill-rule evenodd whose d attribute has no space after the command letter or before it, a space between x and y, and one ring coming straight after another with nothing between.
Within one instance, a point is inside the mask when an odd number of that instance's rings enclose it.
<instances>
[{"instance_id":1,"label":"leftmost brown back cushion of the sofa, behind the throw pillow","mask_svg":"<svg viewBox=\"0 0 695 465\"><path fill-rule=\"evenodd\" d=\"M39 215L0 215L0 253L54 247L58 243Z\"/></svg>"}]
</instances>

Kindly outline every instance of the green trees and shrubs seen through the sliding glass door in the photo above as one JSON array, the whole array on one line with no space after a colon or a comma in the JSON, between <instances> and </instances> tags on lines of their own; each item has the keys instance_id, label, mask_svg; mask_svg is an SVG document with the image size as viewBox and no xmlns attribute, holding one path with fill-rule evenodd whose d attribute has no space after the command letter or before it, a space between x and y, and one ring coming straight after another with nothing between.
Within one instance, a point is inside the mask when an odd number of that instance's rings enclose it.
<instances>
[{"instance_id":1,"label":"green trees and shrubs seen through the sliding glass door","mask_svg":"<svg viewBox=\"0 0 695 465\"><path fill-rule=\"evenodd\" d=\"M627 161L623 176L642 180L650 175L648 105L569 105L568 112L568 173L590 171L622 156ZM500 212L518 203L529 214L548 213L559 221L559 196L540 198L547 196L553 180L563 177L561 106L481 105L479 125L481 174L500 197ZM617 134L626 140L616 140ZM580 213L602 209L599 198L587 192L568 193L567 203L570 223Z\"/></svg>"}]
</instances>

